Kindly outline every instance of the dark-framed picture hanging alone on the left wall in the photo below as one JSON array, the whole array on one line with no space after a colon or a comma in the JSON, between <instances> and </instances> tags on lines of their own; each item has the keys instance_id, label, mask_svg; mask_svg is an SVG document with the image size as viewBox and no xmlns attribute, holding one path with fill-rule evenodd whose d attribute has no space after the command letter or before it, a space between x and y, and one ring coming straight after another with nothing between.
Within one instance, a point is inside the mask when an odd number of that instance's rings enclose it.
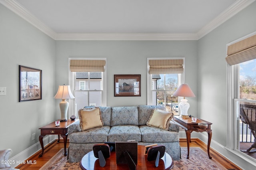
<instances>
[{"instance_id":1,"label":"dark-framed picture hanging alone on the left wall","mask_svg":"<svg viewBox=\"0 0 256 170\"><path fill-rule=\"evenodd\" d=\"M42 70L19 65L19 102L42 99Z\"/></svg>"}]
</instances>

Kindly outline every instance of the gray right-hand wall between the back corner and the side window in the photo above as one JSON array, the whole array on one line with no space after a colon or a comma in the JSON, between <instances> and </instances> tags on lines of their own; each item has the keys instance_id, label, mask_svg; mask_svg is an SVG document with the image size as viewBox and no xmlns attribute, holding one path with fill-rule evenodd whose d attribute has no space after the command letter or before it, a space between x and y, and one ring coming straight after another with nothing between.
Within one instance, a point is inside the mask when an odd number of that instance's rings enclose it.
<instances>
[{"instance_id":1,"label":"gray right-hand wall between the back corner and the side window","mask_svg":"<svg viewBox=\"0 0 256 170\"><path fill-rule=\"evenodd\" d=\"M198 116L213 123L213 139L226 146L226 44L256 31L256 2L198 41Z\"/></svg>"}]
</instances>

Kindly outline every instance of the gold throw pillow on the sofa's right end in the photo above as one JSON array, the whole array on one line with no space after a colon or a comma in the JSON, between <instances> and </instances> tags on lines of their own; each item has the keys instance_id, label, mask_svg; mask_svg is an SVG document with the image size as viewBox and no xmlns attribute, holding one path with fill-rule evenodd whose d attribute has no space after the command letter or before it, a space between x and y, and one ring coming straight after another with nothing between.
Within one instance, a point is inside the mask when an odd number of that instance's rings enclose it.
<instances>
[{"instance_id":1,"label":"gold throw pillow on the sofa's right end","mask_svg":"<svg viewBox=\"0 0 256 170\"><path fill-rule=\"evenodd\" d=\"M172 118L173 118L173 113L171 112L162 111L159 109L153 109L152 114L149 120L147 121L146 125L168 130L169 124Z\"/></svg>"}]
</instances>

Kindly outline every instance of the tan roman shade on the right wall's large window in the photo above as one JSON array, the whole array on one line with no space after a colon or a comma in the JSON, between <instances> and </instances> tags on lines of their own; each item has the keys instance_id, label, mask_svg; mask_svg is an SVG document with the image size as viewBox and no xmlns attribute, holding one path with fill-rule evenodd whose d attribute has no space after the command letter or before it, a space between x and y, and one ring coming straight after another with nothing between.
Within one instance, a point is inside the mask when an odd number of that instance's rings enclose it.
<instances>
[{"instance_id":1,"label":"tan roman shade on the right wall's large window","mask_svg":"<svg viewBox=\"0 0 256 170\"><path fill-rule=\"evenodd\" d=\"M226 61L229 65L256 59L256 35L228 46Z\"/></svg>"}]
</instances>

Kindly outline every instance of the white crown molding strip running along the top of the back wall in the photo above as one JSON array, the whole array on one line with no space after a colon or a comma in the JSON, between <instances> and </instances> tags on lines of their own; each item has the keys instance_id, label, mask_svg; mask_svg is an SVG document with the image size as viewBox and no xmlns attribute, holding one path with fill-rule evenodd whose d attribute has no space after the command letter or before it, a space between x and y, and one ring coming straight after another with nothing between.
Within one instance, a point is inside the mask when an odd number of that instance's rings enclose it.
<instances>
[{"instance_id":1,"label":"white crown molding strip running along the top of the back wall","mask_svg":"<svg viewBox=\"0 0 256 170\"><path fill-rule=\"evenodd\" d=\"M196 34L57 34L56 40L198 40Z\"/></svg>"}]
</instances>

